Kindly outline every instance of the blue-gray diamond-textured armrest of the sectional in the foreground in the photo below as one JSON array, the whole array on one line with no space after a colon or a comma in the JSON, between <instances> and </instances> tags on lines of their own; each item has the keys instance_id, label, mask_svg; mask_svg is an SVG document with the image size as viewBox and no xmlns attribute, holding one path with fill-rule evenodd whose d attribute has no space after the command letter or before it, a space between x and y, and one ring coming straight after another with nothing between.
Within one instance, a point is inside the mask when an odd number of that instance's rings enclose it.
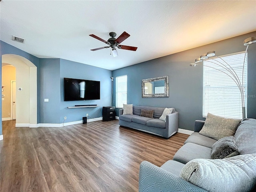
<instances>
[{"instance_id":1,"label":"blue-gray diamond-textured armrest of the sectional in the foreground","mask_svg":"<svg viewBox=\"0 0 256 192\"><path fill-rule=\"evenodd\" d=\"M206 192L206 190L148 162L140 164L139 192Z\"/></svg>"}]
</instances>

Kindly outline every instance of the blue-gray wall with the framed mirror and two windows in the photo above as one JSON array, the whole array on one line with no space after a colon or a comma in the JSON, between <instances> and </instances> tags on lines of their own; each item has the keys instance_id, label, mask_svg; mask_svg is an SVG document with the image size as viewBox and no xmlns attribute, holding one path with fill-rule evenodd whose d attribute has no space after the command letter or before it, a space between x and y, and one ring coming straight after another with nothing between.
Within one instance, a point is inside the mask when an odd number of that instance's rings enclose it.
<instances>
[{"instance_id":1,"label":"blue-gray wall with the framed mirror and two windows","mask_svg":"<svg viewBox=\"0 0 256 192\"><path fill-rule=\"evenodd\" d=\"M205 119L202 118L203 68L190 67L189 64L210 50L215 50L218 56L245 51L243 41L251 36L255 37L256 32L114 70L112 75L114 80L116 76L127 75L127 104L174 107L179 112L179 128L194 130L194 121ZM256 44L252 44L248 48L248 96L251 96L248 97L248 118L256 118L256 97L253 97L256 95L255 74ZM142 79L165 75L169 76L170 96L142 98Z\"/></svg>"}]
</instances>

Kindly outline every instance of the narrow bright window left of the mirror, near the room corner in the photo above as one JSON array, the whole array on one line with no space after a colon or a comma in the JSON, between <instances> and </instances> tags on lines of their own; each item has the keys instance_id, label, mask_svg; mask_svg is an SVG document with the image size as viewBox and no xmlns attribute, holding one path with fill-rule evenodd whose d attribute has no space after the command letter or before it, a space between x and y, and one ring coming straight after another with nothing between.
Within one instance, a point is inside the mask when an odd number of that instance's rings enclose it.
<instances>
[{"instance_id":1,"label":"narrow bright window left of the mirror, near the room corner","mask_svg":"<svg viewBox=\"0 0 256 192\"><path fill-rule=\"evenodd\" d=\"M116 107L127 104L127 75L116 77Z\"/></svg>"}]
</instances>

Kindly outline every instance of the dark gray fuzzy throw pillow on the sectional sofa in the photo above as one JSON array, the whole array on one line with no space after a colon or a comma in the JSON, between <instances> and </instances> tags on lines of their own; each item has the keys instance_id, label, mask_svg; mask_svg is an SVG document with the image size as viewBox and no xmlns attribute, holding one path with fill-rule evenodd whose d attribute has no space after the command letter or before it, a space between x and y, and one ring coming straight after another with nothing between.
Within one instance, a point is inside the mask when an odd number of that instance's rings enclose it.
<instances>
[{"instance_id":1,"label":"dark gray fuzzy throw pillow on the sectional sofa","mask_svg":"<svg viewBox=\"0 0 256 192\"><path fill-rule=\"evenodd\" d=\"M221 138L212 145L212 159L223 159L238 155L234 136Z\"/></svg>"}]
</instances>

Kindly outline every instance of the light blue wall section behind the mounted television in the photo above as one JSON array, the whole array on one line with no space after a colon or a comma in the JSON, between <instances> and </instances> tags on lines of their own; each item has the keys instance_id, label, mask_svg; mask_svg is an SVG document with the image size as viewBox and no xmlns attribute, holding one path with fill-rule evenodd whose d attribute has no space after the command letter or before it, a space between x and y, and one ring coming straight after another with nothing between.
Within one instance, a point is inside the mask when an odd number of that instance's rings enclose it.
<instances>
[{"instance_id":1,"label":"light blue wall section behind the mounted television","mask_svg":"<svg viewBox=\"0 0 256 192\"><path fill-rule=\"evenodd\" d=\"M100 81L100 100L64 101L64 78ZM60 122L74 122L82 120L86 114L89 118L102 116L102 106L111 105L112 71L78 62L60 59ZM67 108L68 106L97 104L95 108Z\"/></svg>"}]
</instances>

